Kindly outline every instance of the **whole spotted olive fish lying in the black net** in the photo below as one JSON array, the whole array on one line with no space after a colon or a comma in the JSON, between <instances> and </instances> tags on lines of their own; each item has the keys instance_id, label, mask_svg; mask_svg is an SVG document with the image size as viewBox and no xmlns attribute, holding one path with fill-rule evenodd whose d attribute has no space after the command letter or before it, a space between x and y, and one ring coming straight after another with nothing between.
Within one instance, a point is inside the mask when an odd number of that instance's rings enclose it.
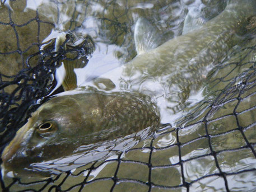
<instances>
[{"instance_id":1,"label":"whole spotted olive fish lying in the black net","mask_svg":"<svg viewBox=\"0 0 256 192\"><path fill-rule=\"evenodd\" d=\"M35 162L68 156L81 145L159 127L160 116L165 123L173 114L170 108L185 102L213 64L244 40L249 32L246 26L255 14L254 0L230 1L200 29L160 46L156 31L139 19L135 40L140 54L86 82L85 87L66 91L41 105L4 149L2 167L6 171L27 169ZM72 82L72 70L66 67L66 90Z\"/></svg>"}]
</instances>

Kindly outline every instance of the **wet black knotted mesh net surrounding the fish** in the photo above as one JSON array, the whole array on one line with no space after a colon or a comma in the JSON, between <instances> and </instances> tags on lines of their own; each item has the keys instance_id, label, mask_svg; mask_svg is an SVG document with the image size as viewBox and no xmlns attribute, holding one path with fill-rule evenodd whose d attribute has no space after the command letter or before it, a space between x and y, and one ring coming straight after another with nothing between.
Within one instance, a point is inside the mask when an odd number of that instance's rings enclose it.
<instances>
[{"instance_id":1,"label":"wet black knotted mesh net surrounding the fish","mask_svg":"<svg viewBox=\"0 0 256 192\"><path fill-rule=\"evenodd\" d=\"M55 2L55 1L53 1ZM85 2L85 1L83 1ZM5 3L5 1L3 1L2 3ZM58 3L58 2L55 2ZM58 10L59 11L59 10ZM1 118L1 135L0 135L0 146L1 146L1 151L3 150L3 147L6 146L6 144L8 142L11 141L11 139L13 138L15 132L17 131L17 129L19 127L21 127L22 124L25 123L25 119L27 118L27 116L29 116L29 114L31 113L31 111L34 111L39 105L36 104L36 101L39 99L42 99L44 96L48 95L54 88L54 84L56 83L55 81L53 81L53 79L51 78L51 75L54 74L55 72L55 68L58 66L58 62L60 60L62 60L64 58L64 55L66 53L68 53L68 51L73 51L73 50L64 50L64 49L60 49L58 53L54 53L53 47L50 47L46 50L39 50L38 52L30 55L28 58L24 58L23 54L26 53L33 45L37 45L38 48L40 48L40 46L42 45L40 43L40 23L45 23L45 24L49 24L54 26L54 24L50 23L50 22L46 22L43 20L40 20L40 17L38 15L38 12L36 12L36 17L32 18L31 20L25 22L24 24L18 25L15 24L12 21L12 13L11 10L8 9L8 14L9 14L9 18L10 21L8 23L5 22L1 22L0 21L0 26L1 25L10 25L13 29L13 31L15 32L15 36L16 36L16 40L17 40L17 49L14 51L10 51L10 52L6 52L6 53L0 53L0 54L4 54L4 55L10 55L13 53L18 53L20 54L21 58L22 58L22 65L23 65L23 69L21 69L20 72L18 72L15 76L6 76L5 74L0 74L0 89L1 89L1 106L0 106L0 118ZM59 14L58 14L59 15ZM76 22L75 18L75 11L73 12L72 15L72 22L70 25L73 24L73 22ZM117 21L112 21L109 20L108 18L100 18L102 21L104 20L108 20L111 22L111 25L115 25L116 27L118 27L119 30L123 30L125 32L125 30L127 30L126 28L124 28L122 25L119 25L120 23L118 23L117 25ZM118 18L116 18L118 20ZM19 42L19 37L18 37L18 32L16 30L16 27L22 27L25 26L27 24L29 24L30 22L36 22L38 24L38 37L37 37L37 42L35 42L34 44L31 44L30 46L28 46L27 49L25 50L21 50L20 48L20 42ZM76 24L75 24L76 25ZM71 26L69 27L69 29L71 29ZM115 34L117 35L117 34ZM114 38L114 35L113 35ZM66 42L65 42L66 43ZM64 44L65 44L64 43ZM255 45L256 46L256 45ZM251 50L255 50L255 46L250 47L250 48L246 48L246 49L251 49ZM79 48L76 48L76 51L79 53ZM39 57L39 62L35 67L31 67L30 65L30 60L34 57ZM75 58L76 59L76 58ZM75 60L74 59L74 60ZM226 67L226 66L230 66L230 65L234 65L234 68L232 70L234 70L236 67L239 67L241 64L243 63L243 60L240 60L240 63L228 63L225 65L222 65L222 67ZM22 186L29 186L28 189L25 190L21 190L21 191L44 191L48 186L50 186L50 188L48 188L48 191L71 191L72 189L78 189L78 191L83 191L83 189L85 188L86 185L92 184L92 183L96 183L98 181L113 181L113 185L110 188L110 191L114 191L116 186L122 182L133 182L142 186L146 186L148 191L153 191L154 188L158 188L158 189L180 189L180 188L184 188L187 191L190 191L190 186L195 183L198 182L202 179L205 179L206 177L213 177L213 176L219 176L222 177L222 179L224 180L224 184L225 184L225 189L226 191L230 191L229 188L229 182L227 180L227 176L230 175L236 175L236 174L241 174L243 172L254 172L256 171L256 168L248 168L245 170L241 170L241 171L234 171L234 172L225 172L222 171L222 168L220 167L219 163L218 163L218 158L217 156L221 153L226 153L226 152L230 152L230 151L240 151L241 149L250 149L250 151L252 151L253 156L256 158L256 153L255 153L255 144L256 143L252 143L249 142L249 139L246 137L245 135L245 130L248 130L252 127L254 127L256 125L256 122L254 121L252 124L247 125L246 127L241 126L240 124L240 120L239 120L239 115L244 114L248 111L252 111L254 109L256 109L256 106L251 106L248 109L245 109L243 111L238 112L237 109L239 107L239 105L241 104L242 101L256 95L256 91L249 93L249 95L243 96L243 93L246 90L253 90L253 88L255 88L256 86L256 79L255 74L256 74L256 69L255 69L255 62L252 62L252 67L250 67L247 71L245 71L243 74L239 74L239 76L237 76L237 79L239 79L242 83L240 83L238 86L232 86L234 85L234 81L237 81L236 78L234 79L229 79L229 81L231 82L229 85L227 85L223 90L218 91L218 95L215 99L215 101L209 103L208 107L208 113L204 116L204 118L202 120L197 121L196 123L193 124L189 124L186 125L184 127L178 127L178 128L171 128L170 125L166 125L166 130L168 130L165 133L162 134L168 134L168 133L175 133L176 134L176 143L171 144L170 146L167 147L162 147L162 148L156 148L153 146L153 142L155 141L155 138L151 139L150 142L150 146L148 147L143 147L143 148L133 148L133 149L128 149L127 151L125 151L124 153L128 153L128 152L132 152L132 151L142 151L147 149L149 151L148 153L148 162L142 162L142 161L134 161L134 160L123 160L122 159L122 153L118 154L118 157L116 159L113 160L106 160L104 162L101 162L99 165L96 165L97 162L94 162L90 168L87 168L86 170L83 170L77 174L73 174L71 171L67 171L63 174L60 174L56 177L50 178L50 179L46 179L46 180L41 180L41 181L34 181L34 182L29 182L29 183L24 183L22 181L20 181L20 179L13 179L13 181L6 185L2 179L2 175L1 175L1 171L0 171L0 183L1 183L1 189L2 191L11 191L11 188L13 185L15 184L20 184ZM230 73L232 72L232 70L230 71ZM219 79L215 79L214 81L216 81L215 85L218 85L218 83L223 82L223 81L227 81L224 80L229 74L226 74L226 76L219 78ZM3 81L2 78L8 78L10 79L10 81ZM23 82L21 82L21 80ZM29 81L31 81L32 83L29 83ZM15 88L15 90L13 90L13 92L11 93L7 93L4 91L4 88L10 86L10 85L18 85L17 88ZM18 95L17 95L18 93ZM238 96L235 96L236 94L238 94ZM211 119L211 115L219 110L221 108L222 105L227 104L229 102L235 101L237 100L237 104L234 107L234 110L232 111L231 114L226 114L224 116L221 116L219 118L216 119ZM18 101L21 101L21 103L19 104ZM43 100L44 102L44 100ZM32 107L31 107L32 105ZM12 106L12 107L10 107ZM15 106L15 107L13 107ZM24 116L21 116L20 114L22 114L22 111L27 111L26 112L26 118L24 118ZM234 116L235 120L236 120L236 128L233 128L227 132L222 132L219 134L210 134L208 131L208 125L209 123L215 122L217 120L220 119L224 119L227 116ZM189 116L188 116L189 118ZM197 124L203 124L204 129L206 134L202 135L201 137L197 137L194 138L190 141L187 142L181 142L180 141L180 135L179 132L183 129L187 129L188 127L192 126L192 125L197 125ZM243 139L245 141L245 145L239 148L232 148L232 149L223 149L221 151L215 151L212 147L212 138L216 138L216 137L220 137L221 135L225 135L231 132L236 132L239 131L241 133L241 135L243 136ZM204 154L202 156L198 156L198 157L193 157L193 158L188 158L188 159L183 159L182 156L182 150L184 146L187 146L188 144L194 142L194 141L199 141L202 138L206 138L208 141L208 146L210 148L210 153L208 154ZM151 158L152 158L152 154L156 151L164 151L165 149L169 149L172 147L178 147L178 156L179 156L179 162L178 163L173 163L173 164L169 164L169 165L153 165ZM200 159L203 157L207 157L207 156L212 156L214 158L215 161L215 165L217 167L218 173L215 174L208 174L206 176L203 177L199 177L196 180L193 180L191 182L188 182L185 174L184 174L184 163L185 162L189 162L192 160L196 160L196 159ZM108 162L117 162L117 167L115 169L115 171L113 172L113 176L111 177L101 177L99 179L93 179L93 180L89 180L89 176L91 174L92 171L97 170L97 168L99 168L101 165L103 165L104 163L108 163ZM0 162L1 163L1 162ZM136 179L130 179L130 178L122 178L119 179L118 177L118 172L120 170L120 165L122 165L122 163L134 163L134 164L138 164L138 165L143 165L143 166L147 166L148 167L148 179L147 181L141 181L141 180L136 180ZM175 186L165 186L165 185L159 185L159 184L154 184L154 182L152 181L152 170L154 169L158 169L158 168L170 168L170 167L174 167L174 166L179 166L180 167L180 172L181 172L181 184L180 185L175 185ZM63 179L61 179L60 181L60 177L62 175L65 175ZM73 186L70 186L67 189L62 189L62 185L66 182L66 180L68 179L68 177L78 177L84 175L84 180L82 182L79 182L77 184L74 184ZM58 185L55 185L54 183L56 181L60 181L58 182ZM32 186L34 184L43 184L43 186L38 189L32 189ZM31 188L30 188L31 186Z\"/></svg>"}]
</instances>

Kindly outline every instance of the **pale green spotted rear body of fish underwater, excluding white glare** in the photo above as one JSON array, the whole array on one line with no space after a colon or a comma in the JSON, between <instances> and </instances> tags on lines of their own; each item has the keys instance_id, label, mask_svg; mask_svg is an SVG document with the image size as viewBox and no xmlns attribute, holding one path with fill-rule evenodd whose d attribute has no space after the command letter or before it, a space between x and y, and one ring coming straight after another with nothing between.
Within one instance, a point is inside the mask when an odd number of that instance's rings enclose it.
<instances>
[{"instance_id":1,"label":"pale green spotted rear body of fish underwater, excluding white glare","mask_svg":"<svg viewBox=\"0 0 256 192\"><path fill-rule=\"evenodd\" d=\"M202 29L178 36L138 55L125 65L122 76L132 82L160 77L162 86L197 85L196 82L202 79L203 72L208 71L210 64L217 63L228 50L244 40L247 20L256 14L256 2L240 2L229 4L224 12L207 22ZM134 85L141 86L142 83Z\"/></svg>"}]
</instances>

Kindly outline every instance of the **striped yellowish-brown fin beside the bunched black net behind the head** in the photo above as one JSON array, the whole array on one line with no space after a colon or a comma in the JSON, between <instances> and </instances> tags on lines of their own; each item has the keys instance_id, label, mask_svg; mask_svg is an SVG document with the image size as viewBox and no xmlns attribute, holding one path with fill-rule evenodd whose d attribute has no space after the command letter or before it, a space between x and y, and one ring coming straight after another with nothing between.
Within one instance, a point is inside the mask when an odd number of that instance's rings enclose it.
<instances>
[{"instance_id":1,"label":"striped yellowish-brown fin beside the bunched black net behind the head","mask_svg":"<svg viewBox=\"0 0 256 192\"><path fill-rule=\"evenodd\" d=\"M66 41L67 33L62 32L55 41L55 51L59 50L59 47L63 45L64 41ZM66 49L67 45L63 45L63 49ZM73 90L77 87L77 76L74 71L76 68L83 68L88 63L87 57L81 57L75 59L77 57L77 53L68 52L65 54L67 59L62 60L62 64L65 69L65 77L62 82L62 86L64 91ZM70 59L70 60L69 60ZM72 60L75 59L75 60Z\"/></svg>"}]
</instances>

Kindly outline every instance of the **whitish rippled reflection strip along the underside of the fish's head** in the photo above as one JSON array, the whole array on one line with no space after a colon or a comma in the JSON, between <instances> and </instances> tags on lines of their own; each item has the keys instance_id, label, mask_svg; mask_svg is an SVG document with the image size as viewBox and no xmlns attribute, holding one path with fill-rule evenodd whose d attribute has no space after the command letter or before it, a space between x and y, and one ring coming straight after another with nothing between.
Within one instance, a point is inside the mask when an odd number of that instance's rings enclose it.
<instances>
[{"instance_id":1,"label":"whitish rippled reflection strip along the underside of the fish's head","mask_svg":"<svg viewBox=\"0 0 256 192\"><path fill-rule=\"evenodd\" d=\"M138 133L127 135L124 138L114 139L113 141L98 142L87 146L80 146L73 151L70 156L55 158L50 161L31 163L29 167L25 167L25 169L22 166L21 170L18 170L17 166L15 172L7 172L6 174L11 177L33 175L33 177L43 179L44 177L57 175L64 171L75 171L76 168L85 166L95 160L111 160L112 158L117 157L117 153L136 146L139 141L144 140L150 134L152 134L151 130L150 128L147 128Z\"/></svg>"}]
</instances>

